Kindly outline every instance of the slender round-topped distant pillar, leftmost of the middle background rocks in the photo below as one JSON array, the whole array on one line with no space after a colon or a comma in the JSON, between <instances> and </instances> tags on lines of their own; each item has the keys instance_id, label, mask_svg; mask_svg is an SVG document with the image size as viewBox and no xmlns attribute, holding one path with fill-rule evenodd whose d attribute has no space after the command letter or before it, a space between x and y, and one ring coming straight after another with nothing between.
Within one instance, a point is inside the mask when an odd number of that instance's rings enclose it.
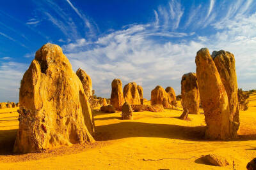
<instances>
[{"instance_id":1,"label":"slender round-topped distant pillar, leftmost of the middle background rocks","mask_svg":"<svg viewBox=\"0 0 256 170\"><path fill-rule=\"evenodd\" d=\"M122 110L124 104L124 94L122 90L122 81L120 79L114 79L111 83L112 91L110 104L114 106L116 110Z\"/></svg>"}]
</instances>

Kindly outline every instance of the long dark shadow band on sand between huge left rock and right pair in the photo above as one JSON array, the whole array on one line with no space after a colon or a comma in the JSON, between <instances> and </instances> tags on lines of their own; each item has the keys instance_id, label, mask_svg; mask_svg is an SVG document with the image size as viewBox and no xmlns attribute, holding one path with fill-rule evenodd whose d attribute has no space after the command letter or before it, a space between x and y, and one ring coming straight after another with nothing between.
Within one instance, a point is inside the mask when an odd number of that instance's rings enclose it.
<instances>
[{"instance_id":1,"label":"long dark shadow band on sand between huge left rock and right pair","mask_svg":"<svg viewBox=\"0 0 256 170\"><path fill-rule=\"evenodd\" d=\"M204 126L186 127L168 124L148 124L141 122L120 122L96 127L95 139L107 141L130 137L172 138L184 140L204 140Z\"/></svg>"}]
</instances>

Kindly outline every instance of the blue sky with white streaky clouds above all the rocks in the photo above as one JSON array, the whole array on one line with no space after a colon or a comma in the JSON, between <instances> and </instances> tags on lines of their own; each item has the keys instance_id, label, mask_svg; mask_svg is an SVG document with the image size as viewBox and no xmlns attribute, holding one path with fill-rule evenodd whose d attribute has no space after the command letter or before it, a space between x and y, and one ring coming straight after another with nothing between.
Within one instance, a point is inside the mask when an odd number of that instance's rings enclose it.
<instances>
[{"instance_id":1,"label":"blue sky with white streaky clouds above all the rocks","mask_svg":"<svg viewBox=\"0 0 256 170\"><path fill-rule=\"evenodd\" d=\"M20 80L45 43L82 67L97 96L111 81L180 93L202 47L236 57L240 88L256 88L256 1L3 1L0 5L0 102L19 101Z\"/></svg>"}]
</instances>

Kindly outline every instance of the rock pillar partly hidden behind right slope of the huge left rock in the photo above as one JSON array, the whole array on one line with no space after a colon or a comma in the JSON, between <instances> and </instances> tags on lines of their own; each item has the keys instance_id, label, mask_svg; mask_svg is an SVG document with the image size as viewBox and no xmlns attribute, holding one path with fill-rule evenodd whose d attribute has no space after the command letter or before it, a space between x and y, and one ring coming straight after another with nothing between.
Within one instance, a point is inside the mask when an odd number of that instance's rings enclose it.
<instances>
[{"instance_id":1,"label":"rock pillar partly hidden behind right slope of the huge left rock","mask_svg":"<svg viewBox=\"0 0 256 170\"><path fill-rule=\"evenodd\" d=\"M76 71L76 74L80 81L82 82L83 88L84 88L84 93L86 96L89 98L92 96L92 79L90 76L83 71L83 69L79 68Z\"/></svg>"}]
</instances>

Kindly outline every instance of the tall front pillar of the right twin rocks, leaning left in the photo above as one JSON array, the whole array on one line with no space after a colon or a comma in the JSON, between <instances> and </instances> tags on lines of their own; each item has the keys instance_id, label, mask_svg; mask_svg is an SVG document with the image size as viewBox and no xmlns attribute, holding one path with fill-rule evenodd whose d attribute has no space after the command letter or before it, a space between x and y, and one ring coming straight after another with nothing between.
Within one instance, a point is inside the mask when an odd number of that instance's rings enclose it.
<instances>
[{"instance_id":1,"label":"tall front pillar of the right twin rocks, leaning left","mask_svg":"<svg viewBox=\"0 0 256 170\"><path fill-rule=\"evenodd\" d=\"M230 119L230 108L225 87L207 48L196 53L196 77L204 109L205 137L231 139L237 134L237 125Z\"/></svg>"}]
</instances>

